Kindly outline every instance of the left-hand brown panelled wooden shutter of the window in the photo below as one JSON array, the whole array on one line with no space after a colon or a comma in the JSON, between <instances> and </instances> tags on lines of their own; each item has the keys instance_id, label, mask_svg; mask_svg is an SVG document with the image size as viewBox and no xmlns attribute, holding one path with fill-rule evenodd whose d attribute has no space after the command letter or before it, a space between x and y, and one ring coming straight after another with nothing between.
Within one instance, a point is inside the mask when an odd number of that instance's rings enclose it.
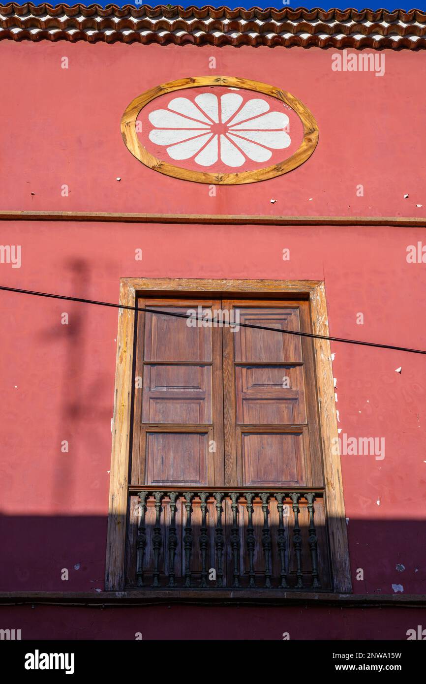
<instances>
[{"instance_id":1,"label":"left-hand brown panelled wooden shutter of the window","mask_svg":"<svg viewBox=\"0 0 426 684\"><path fill-rule=\"evenodd\" d=\"M132 483L223 484L222 330L167 315L200 306L211 316L220 303L139 299L138 306L159 313L137 320Z\"/></svg>"}]
</instances>

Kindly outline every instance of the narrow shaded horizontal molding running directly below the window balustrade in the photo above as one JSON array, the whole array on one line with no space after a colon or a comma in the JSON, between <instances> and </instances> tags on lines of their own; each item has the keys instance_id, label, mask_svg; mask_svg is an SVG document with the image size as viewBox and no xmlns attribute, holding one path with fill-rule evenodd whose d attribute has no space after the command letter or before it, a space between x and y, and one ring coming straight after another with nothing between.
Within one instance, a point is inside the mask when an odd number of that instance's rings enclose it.
<instances>
[{"instance_id":1,"label":"narrow shaded horizontal molding running directly below the window balustrade","mask_svg":"<svg viewBox=\"0 0 426 684\"><path fill-rule=\"evenodd\" d=\"M310 605L347 608L425 608L426 594L330 594L268 590L142 590L130 592L1 592L0 605L132 607L140 605Z\"/></svg>"}]
</instances>

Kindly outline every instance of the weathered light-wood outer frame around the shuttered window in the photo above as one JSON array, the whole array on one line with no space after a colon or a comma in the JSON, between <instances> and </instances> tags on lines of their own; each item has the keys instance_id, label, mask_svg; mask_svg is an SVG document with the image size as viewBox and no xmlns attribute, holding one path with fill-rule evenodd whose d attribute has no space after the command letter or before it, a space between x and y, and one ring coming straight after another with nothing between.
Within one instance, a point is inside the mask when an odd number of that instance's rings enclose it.
<instances>
[{"instance_id":1,"label":"weathered light-wood outer frame around the shuttered window","mask_svg":"<svg viewBox=\"0 0 426 684\"><path fill-rule=\"evenodd\" d=\"M211 293L217 298L252 298L293 295L308 299L312 332L328 336L327 302L323 280L210 280L187 278L120 278L120 304L134 307L137 295L178 295L196 297ZM124 590L124 554L128 503L129 458L131 451L131 413L135 314L129 308L119 309L117 335L114 417L112 423L111 479L109 485L107 557L105 590ZM315 375L319 423L323 449L325 497L327 503L330 561L334 592L351 593L349 550L345 518L345 502L341 475L341 458L333 448L337 443L337 415L330 342L314 339Z\"/></svg>"}]
</instances>

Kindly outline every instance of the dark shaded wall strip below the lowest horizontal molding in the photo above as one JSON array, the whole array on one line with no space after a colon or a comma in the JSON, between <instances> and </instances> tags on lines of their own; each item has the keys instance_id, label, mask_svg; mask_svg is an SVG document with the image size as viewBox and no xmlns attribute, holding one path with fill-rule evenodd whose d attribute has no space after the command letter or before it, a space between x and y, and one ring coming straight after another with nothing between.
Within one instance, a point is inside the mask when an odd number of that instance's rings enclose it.
<instances>
[{"instance_id":1,"label":"dark shaded wall strip below the lowest horizontal molding","mask_svg":"<svg viewBox=\"0 0 426 684\"><path fill-rule=\"evenodd\" d=\"M0 607L2 627L22 629L22 639L282 640L395 639L425 623L424 609L325 607L134 608ZM140 638L140 637L139 637ZM143 648L143 647L142 647ZM395 648L394 650L398 650Z\"/></svg>"}]
</instances>

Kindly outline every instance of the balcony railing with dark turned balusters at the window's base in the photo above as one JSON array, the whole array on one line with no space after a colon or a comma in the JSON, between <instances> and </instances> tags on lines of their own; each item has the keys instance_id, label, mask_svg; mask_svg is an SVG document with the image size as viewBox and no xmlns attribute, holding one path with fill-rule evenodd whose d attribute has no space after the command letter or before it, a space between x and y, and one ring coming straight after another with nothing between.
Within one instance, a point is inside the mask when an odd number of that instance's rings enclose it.
<instances>
[{"instance_id":1,"label":"balcony railing with dark turned balusters at the window's base","mask_svg":"<svg viewBox=\"0 0 426 684\"><path fill-rule=\"evenodd\" d=\"M145 489L131 498L129 586L330 589L323 492Z\"/></svg>"}]
</instances>

